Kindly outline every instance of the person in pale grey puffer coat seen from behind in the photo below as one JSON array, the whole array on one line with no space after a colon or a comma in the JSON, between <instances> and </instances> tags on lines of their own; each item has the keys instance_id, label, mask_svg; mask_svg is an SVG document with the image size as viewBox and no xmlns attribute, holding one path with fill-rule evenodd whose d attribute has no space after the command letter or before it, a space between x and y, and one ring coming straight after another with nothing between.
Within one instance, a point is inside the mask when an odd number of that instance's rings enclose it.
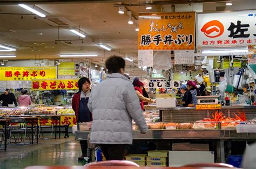
<instances>
[{"instance_id":1,"label":"person in pale grey puffer coat seen from behind","mask_svg":"<svg viewBox=\"0 0 256 169\"><path fill-rule=\"evenodd\" d=\"M109 74L93 87L88 104L93 115L91 143L100 145L106 160L123 160L125 145L132 144L132 119L141 133L147 125L139 98L124 76L125 60L111 56L105 65Z\"/></svg>"}]
</instances>

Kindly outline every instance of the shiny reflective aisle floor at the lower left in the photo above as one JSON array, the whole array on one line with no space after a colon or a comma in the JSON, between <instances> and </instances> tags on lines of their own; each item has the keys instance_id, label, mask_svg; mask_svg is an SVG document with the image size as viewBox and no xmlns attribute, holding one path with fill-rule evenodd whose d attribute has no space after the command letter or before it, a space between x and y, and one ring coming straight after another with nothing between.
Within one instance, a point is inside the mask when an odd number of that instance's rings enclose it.
<instances>
[{"instance_id":1,"label":"shiny reflective aisle floor at the lower left","mask_svg":"<svg viewBox=\"0 0 256 169\"><path fill-rule=\"evenodd\" d=\"M0 161L0 168L24 168L33 165L82 165L77 160L79 155L79 142L71 140L3 159Z\"/></svg>"}]
</instances>

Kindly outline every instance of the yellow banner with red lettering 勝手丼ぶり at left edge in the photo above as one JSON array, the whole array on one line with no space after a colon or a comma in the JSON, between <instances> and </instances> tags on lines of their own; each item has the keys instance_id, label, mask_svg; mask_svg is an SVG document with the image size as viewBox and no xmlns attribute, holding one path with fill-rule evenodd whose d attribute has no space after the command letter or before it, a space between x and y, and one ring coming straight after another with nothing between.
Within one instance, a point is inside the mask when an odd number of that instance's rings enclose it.
<instances>
[{"instance_id":1,"label":"yellow banner with red lettering \u52dd\u624b\u4e3c\u3076\u308a at left edge","mask_svg":"<svg viewBox=\"0 0 256 169\"><path fill-rule=\"evenodd\" d=\"M0 67L0 80L56 79L56 66Z\"/></svg>"}]
</instances>

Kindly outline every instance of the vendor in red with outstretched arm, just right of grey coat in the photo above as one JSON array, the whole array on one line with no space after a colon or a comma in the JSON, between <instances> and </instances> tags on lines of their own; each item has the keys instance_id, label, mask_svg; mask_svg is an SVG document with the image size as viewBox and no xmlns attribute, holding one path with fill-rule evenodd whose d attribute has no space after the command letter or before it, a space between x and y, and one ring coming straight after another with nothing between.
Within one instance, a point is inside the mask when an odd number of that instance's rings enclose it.
<instances>
[{"instance_id":1,"label":"vendor in red with outstretched arm, just right of grey coat","mask_svg":"<svg viewBox=\"0 0 256 169\"><path fill-rule=\"evenodd\" d=\"M149 102L149 103L156 103L156 100L153 100L151 98L147 98L143 96L143 82L141 81L135 81L133 83L134 89L136 90L136 94L139 97L140 107L142 107L142 110L144 110L144 103L143 102Z\"/></svg>"}]
</instances>

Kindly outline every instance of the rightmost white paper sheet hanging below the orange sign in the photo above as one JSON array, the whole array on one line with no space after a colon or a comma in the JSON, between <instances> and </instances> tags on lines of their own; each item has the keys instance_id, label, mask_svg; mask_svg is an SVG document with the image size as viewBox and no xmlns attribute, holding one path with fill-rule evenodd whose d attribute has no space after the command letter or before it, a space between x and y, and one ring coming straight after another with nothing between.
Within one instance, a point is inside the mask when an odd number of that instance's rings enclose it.
<instances>
[{"instance_id":1,"label":"rightmost white paper sheet hanging below the orange sign","mask_svg":"<svg viewBox=\"0 0 256 169\"><path fill-rule=\"evenodd\" d=\"M174 51L174 64L175 65L182 65L194 64L194 51Z\"/></svg>"}]
</instances>

